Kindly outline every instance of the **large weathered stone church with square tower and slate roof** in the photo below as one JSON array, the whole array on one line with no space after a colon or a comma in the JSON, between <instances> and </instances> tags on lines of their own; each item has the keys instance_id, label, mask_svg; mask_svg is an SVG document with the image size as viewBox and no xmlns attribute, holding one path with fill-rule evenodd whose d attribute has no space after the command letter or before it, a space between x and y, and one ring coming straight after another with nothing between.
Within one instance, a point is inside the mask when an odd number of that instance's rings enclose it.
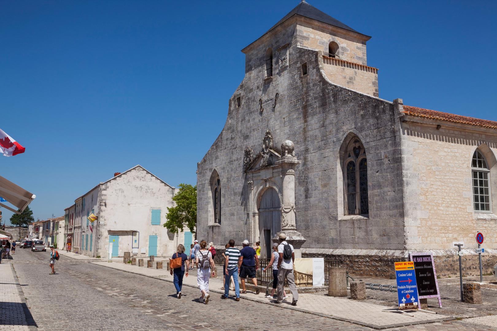
<instances>
[{"instance_id":1,"label":"large weathered stone church with square tower and slate roof","mask_svg":"<svg viewBox=\"0 0 497 331\"><path fill-rule=\"evenodd\" d=\"M197 236L285 232L298 257L390 277L432 252L437 274L497 262L497 122L379 98L370 36L302 1L245 47L245 77L197 166Z\"/></svg>"}]
</instances>

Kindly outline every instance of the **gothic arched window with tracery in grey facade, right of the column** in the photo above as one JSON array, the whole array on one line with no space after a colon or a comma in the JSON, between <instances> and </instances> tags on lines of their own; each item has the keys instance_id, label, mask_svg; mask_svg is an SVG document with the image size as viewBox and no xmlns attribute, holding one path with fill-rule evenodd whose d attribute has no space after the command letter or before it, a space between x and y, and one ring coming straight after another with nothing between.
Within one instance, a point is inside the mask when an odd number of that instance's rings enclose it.
<instances>
[{"instance_id":1,"label":"gothic arched window with tracery in grey facade, right of the column","mask_svg":"<svg viewBox=\"0 0 497 331\"><path fill-rule=\"evenodd\" d=\"M345 150L343 179L345 214L369 214L368 161L366 150L357 137L351 139Z\"/></svg>"}]
</instances>

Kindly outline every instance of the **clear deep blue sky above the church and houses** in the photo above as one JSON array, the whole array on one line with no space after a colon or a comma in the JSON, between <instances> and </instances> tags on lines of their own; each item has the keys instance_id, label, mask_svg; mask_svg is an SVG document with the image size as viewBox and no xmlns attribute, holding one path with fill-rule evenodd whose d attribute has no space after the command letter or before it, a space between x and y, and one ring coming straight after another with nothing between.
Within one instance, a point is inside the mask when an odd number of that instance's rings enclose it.
<instances>
[{"instance_id":1,"label":"clear deep blue sky above the church and houses","mask_svg":"<svg viewBox=\"0 0 497 331\"><path fill-rule=\"evenodd\" d=\"M381 98L497 120L497 1L308 2L372 36ZM195 184L240 50L298 3L0 1L0 128L26 147L0 175L36 194L35 219L136 164Z\"/></svg>"}]
</instances>

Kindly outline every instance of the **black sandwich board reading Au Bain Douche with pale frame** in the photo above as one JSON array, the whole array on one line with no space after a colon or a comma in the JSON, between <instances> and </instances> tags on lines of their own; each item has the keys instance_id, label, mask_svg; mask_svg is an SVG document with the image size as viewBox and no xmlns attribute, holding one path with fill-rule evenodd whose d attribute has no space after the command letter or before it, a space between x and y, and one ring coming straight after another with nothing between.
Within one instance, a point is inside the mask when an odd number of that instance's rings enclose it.
<instances>
[{"instance_id":1,"label":"black sandwich board reading Au Bain Douche with pale frame","mask_svg":"<svg viewBox=\"0 0 497 331\"><path fill-rule=\"evenodd\" d=\"M433 253L410 253L409 260L414 263L418 298L438 298L438 306L442 308Z\"/></svg>"}]
</instances>

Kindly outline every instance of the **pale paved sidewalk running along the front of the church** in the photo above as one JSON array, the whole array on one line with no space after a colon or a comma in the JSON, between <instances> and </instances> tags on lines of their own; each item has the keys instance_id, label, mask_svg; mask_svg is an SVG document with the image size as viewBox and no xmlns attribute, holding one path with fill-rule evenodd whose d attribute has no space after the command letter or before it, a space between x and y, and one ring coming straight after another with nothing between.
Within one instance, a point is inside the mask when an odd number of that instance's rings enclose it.
<instances>
[{"instance_id":1,"label":"pale paved sidewalk running along the front of the church","mask_svg":"<svg viewBox=\"0 0 497 331\"><path fill-rule=\"evenodd\" d=\"M166 270L166 264L164 265L164 269L156 269L155 267L139 267L137 265L129 265L114 261L112 263L90 263L172 282L172 276L169 275L169 271ZM218 267L218 271L221 270L222 268ZM197 288L196 276L197 270L190 270L190 275L183 278L183 285ZM224 293L221 289L223 287L222 281L223 277L220 274L216 278L211 278L209 281L210 292L219 294ZM283 304L279 305L273 303L274 300L265 298L264 294L265 287L261 287L261 291L258 295L256 295L255 292L248 292L247 294L242 294L241 298L263 304L274 305L280 308L297 310L339 321L354 323L378 330L449 321L454 319L450 316L428 314L419 311L412 313L410 312L410 314L414 315L414 317L396 312L385 312L383 310L388 309L388 307L364 301L355 301L347 298L329 297L327 295L323 295L323 293L299 293L298 305L294 307L291 306L291 300L286 300ZM230 295L234 295L233 291L230 291ZM213 296L213 298L216 299L216 296ZM395 303L392 304L392 307L394 305Z\"/></svg>"}]
</instances>

